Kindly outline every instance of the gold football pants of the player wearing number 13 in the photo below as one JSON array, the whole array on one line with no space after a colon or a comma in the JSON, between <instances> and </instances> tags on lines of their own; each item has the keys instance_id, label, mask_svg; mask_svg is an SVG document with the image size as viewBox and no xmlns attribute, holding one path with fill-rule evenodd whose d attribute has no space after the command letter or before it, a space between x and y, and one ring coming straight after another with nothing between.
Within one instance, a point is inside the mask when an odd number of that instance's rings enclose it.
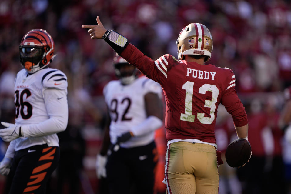
<instances>
[{"instance_id":1,"label":"gold football pants of the player wearing number 13","mask_svg":"<svg viewBox=\"0 0 291 194\"><path fill-rule=\"evenodd\" d=\"M218 169L214 146L175 142L167 147L165 158L168 194L217 194Z\"/></svg>"}]
</instances>

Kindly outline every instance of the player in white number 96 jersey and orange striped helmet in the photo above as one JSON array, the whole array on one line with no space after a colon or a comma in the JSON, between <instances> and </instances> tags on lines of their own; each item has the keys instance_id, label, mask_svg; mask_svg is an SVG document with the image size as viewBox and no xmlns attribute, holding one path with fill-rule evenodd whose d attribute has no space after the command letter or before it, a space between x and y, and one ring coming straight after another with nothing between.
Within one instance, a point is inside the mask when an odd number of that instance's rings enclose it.
<instances>
[{"instance_id":1,"label":"player in white number 96 jersey and orange striped helmet","mask_svg":"<svg viewBox=\"0 0 291 194\"><path fill-rule=\"evenodd\" d=\"M33 29L19 46L24 69L15 79L15 124L1 122L0 137L10 142L0 163L7 192L45 193L59 161L59 139L68 123L67 77L49 68L55 45L49 33Z\"/></svg>"}]
</instances>

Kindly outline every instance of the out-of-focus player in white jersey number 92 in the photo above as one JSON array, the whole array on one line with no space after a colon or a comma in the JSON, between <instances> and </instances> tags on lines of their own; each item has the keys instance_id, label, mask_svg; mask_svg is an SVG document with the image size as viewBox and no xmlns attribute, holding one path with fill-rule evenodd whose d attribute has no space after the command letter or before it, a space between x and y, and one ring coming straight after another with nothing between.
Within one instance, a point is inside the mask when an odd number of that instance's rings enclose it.
<instances>
[{"instance_id":1,"label":"out-of-focus player in white jersey number 92","mask_svg":"<svg viewBox=\"0 0 291 194\"><path fill-rule=\"evenodd\" d=\"M114 67L119 80L103 89L109 115L97 156L97 176L106 177L112 194L128 194L132 187L133 193L152 194L158 159L154 134L162 126L162 89L151 79L139 77L139 70L119 55Z\"/></svg>"}]
</instances>

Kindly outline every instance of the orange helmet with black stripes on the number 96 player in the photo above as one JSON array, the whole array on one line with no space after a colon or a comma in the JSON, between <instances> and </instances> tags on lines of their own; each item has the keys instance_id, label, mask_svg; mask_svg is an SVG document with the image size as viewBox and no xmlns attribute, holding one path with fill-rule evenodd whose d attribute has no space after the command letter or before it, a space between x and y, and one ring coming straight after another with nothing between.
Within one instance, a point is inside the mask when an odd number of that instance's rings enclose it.
<instances>
[{"instance_id":1,"label":"orange helmet with black stripes on the number 96 player","mask_svg":"<svg viewBox=\"0 0 291 194\"><path fill-rule=\"evenodd\" d=\"M46 67L54 58L55 43L43 29L27 32L19 45L20 63L29 73Z\"/></svg>"}]
</instances>

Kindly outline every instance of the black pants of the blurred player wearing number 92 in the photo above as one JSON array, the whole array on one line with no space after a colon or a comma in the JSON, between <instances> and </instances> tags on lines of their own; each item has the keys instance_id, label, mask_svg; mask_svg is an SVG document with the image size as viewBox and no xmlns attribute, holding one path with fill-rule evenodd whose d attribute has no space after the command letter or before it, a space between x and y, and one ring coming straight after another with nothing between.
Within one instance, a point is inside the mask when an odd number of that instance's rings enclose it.
<instances>
[{"instance_id":1,"label":"black pants of the blurred player wearing number 92","mask_svg":"<svg viewBox=\"0 0 291 194\"><path fill-rule=\"evenodd\" d=\"M113 151L106 165L109 193L152 194L157 160L155 142Z\"/></svg>"}]
</instances>

